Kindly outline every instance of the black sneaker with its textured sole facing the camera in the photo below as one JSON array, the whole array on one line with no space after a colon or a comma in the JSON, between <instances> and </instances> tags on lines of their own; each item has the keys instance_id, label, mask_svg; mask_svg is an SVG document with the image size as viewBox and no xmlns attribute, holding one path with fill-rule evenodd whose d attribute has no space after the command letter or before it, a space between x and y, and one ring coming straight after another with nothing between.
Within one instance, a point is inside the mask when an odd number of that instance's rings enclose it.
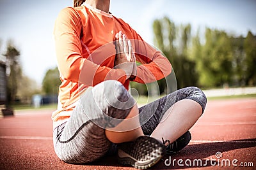
<instances>
[{"instance_id":1,"label":"black sneaker with its textured sole facing the camera","mask_svg":"<svg viewBox=\"0 0 256 170\"><path fill-rule=\"evenodd\" d=\"M161 160L165 150L166 146L157 139L140 136L134 142L118 145L118 162L137 169L147 169Z\"/></svg>"}]
</instances>

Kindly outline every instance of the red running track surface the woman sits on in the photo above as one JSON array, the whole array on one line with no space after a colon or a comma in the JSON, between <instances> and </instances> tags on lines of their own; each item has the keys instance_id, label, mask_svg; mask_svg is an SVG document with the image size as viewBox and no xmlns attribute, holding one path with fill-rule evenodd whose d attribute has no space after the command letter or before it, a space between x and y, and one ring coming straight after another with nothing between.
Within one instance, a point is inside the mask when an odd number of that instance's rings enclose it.
<instances>
[{"instance_id":1,"label":"red running track surface the woman sits on","mask_svg":"<svg viewBox=\"0 0 256 170\"><path fill-rule=\"evenodd\" d=\"M52 146L52 110L17 111L0 118L0 169L134 169L116 157L66 164ZM150 169L256 169L256 99L209 101L192 140Z\"/></svg>"}]
</instances>

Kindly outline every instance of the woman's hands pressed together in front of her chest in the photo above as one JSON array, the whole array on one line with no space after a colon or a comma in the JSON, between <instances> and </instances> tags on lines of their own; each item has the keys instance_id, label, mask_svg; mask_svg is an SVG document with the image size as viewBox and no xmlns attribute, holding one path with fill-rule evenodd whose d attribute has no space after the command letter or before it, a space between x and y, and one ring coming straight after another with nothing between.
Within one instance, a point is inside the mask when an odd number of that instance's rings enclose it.
<instances>
[{"instance_id":1,"label":"woman's hands pressed together in front of her chest","mask_svg":"<svg viewBox=\"0 0 256 170\"><path fill-rule=\"evenodd\" d=\"M134 80L137 74L136 57L131 41L121 31L115 35L115 48L115 68L123 69L127 79Z\"/></svg>"}]
</instances>

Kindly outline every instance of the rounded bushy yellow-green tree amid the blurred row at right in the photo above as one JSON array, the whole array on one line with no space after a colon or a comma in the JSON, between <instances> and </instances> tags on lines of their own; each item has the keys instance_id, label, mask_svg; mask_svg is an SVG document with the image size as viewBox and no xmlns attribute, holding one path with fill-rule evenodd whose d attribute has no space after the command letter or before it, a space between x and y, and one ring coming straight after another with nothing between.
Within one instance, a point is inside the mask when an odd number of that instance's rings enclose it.
<instances>
[{"instance_id":1,"label":"rounded bushy yellow-green tree amid the blurred row at right","mask_svg":"<svg viewBox=\"0 0 256 170\"><path fill-rule=\"evenodd\" d=\"M224 31L205 31L205 44L196 60L199 83L204 87L221 87L232 80L232 46Z\"/></svg>"}]
</instances>

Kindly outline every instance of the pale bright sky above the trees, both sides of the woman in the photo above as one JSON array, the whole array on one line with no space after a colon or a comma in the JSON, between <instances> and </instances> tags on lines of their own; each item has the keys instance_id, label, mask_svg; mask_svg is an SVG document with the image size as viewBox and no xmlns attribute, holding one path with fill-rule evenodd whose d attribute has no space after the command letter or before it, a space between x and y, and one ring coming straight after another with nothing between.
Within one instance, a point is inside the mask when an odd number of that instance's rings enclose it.
<instances>
[{"instance_id":1,"label":"pale bright sky above the trees, both sides of the woman","mask_svg":"<svg viewBox=\"0 0 256 170\"><path fill-rule=\"evenodd\" d=\"M0 53L5 52L6 41L13 39L24 74L39 84L47 69L56 66L52 31L66 6L72 6L72 0L0 1ZM207 26L235 35L246 36L249 30L256 34L255 0L111 0L110 11L151 44L152 22L164 16L177 25L190 23L193 30Z\"/></svg>"}]
</instances>

